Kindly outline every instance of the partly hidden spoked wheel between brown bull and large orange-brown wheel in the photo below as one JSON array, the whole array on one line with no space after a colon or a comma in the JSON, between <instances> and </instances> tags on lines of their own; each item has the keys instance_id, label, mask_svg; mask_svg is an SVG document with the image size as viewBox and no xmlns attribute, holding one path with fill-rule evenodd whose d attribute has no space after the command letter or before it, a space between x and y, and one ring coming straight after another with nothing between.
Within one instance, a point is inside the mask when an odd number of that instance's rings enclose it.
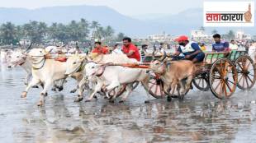
<instances>
[{"instance_id":1,"label":"partly hidden spoked wheel between brown bull and large orange-brown wheel","mask_svg":"<svg viewBox=\"0 0 256 143\"><path fill-rule=\"evenodd\" d=\"M194 79L193 79L193 85L197 87L198 90L202 91L207 91L210 89L209 85L209 77L207 73L201 73L198 74Z\"/></svg>"}]
</instances>

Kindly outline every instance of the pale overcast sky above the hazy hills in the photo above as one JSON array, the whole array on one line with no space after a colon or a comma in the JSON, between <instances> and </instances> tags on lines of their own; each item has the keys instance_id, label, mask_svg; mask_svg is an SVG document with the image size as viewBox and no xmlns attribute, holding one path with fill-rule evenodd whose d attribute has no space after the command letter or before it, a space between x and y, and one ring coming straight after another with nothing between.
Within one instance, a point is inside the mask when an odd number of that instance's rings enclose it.
<instances>
[{"instance_id":1,"label":"pale overcast sky above the hazy hills","mask_svg":"<svg viewBox=\"0 0 256 143\"><path fill-rule=\"evenodd\" d=\"M0 0L0 7L37 8L70 5L100 5L111 7L117 12L127 16L137 16L149 13L175 14L187 8L202 7L204 1L205 0Z\"/></svg>"}]
</instances>

